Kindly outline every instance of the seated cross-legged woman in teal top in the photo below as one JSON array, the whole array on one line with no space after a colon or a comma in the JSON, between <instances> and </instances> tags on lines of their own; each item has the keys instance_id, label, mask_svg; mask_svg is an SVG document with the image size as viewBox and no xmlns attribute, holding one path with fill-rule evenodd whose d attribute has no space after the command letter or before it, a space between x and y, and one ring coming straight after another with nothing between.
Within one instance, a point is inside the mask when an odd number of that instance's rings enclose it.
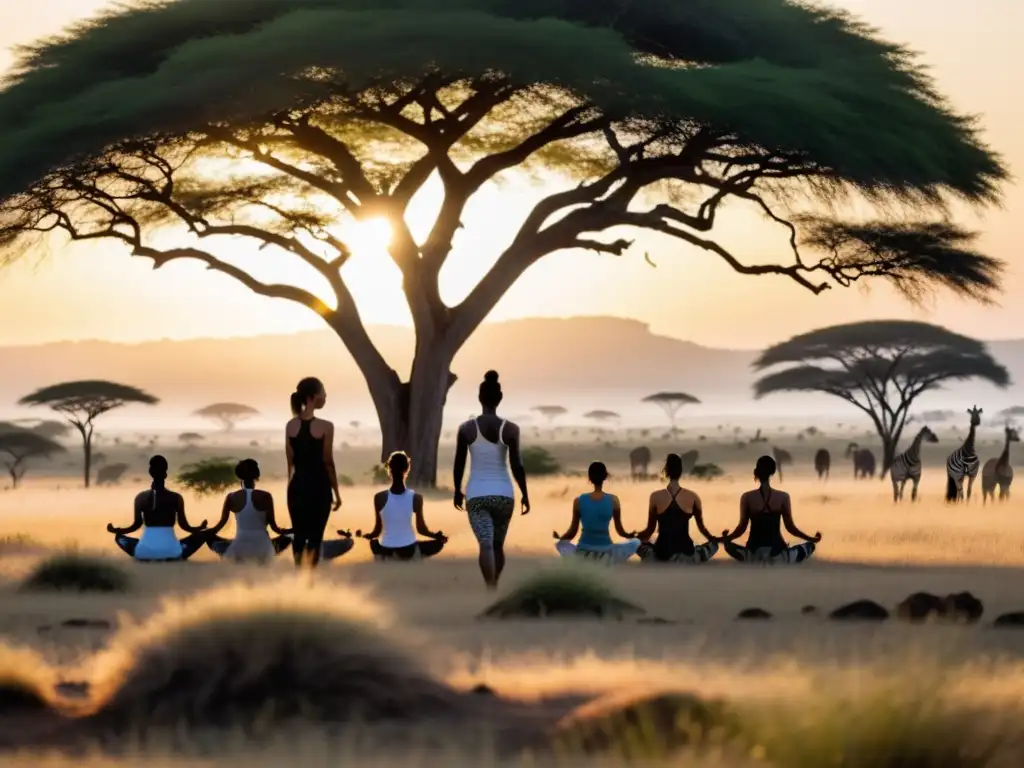
<instances>
[{"instance_id":1,"label":"seated cross-legged woman in teal top","mask_svg":"<svg viewBox=\"0 0 1024 768\"><path fill-rule=\"evenodd\" d=\"M580 555L597 559L607 558L610 562L623 562L637 553L640 540L632 538L623 528L623 509L618 497L605 494L604 481L608 479L608 469L601 462L594 462L587 470L587 477L594 484L594 490L583 494L572 502L572 522L561 536L554 531L558 543L555 549L562 557ZM626 542L612 544L608 534L609 524L614 522L615 532ZM583 535L575 544L580 527Z\"/></svg>"}]
</instances>

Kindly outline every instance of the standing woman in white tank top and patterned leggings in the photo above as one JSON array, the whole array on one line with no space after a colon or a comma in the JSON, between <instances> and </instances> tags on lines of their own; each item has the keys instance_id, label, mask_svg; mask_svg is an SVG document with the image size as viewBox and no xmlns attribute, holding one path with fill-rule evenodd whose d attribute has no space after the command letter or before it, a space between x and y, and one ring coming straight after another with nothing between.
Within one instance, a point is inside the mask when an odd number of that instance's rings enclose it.
<instances>
[{"instance_id":1,"label":"standing woman in white tank top and patterned leggings","mask_svg":"<svg viewBox=\"0 0 1024 768\"><path fill-rule=\"evenodd\" d=\"M469 524L480 545L480 572L488 589L498 588L505 567L505 537L508 534L515 498L512 476L522 495L522 514L529 512L526 472L519 457L519 427L498 416L502 385L498 374L487 371L480 383L480 408L476 419L459 427L455 449L455 506L465 508ZM470 457L469 482L462 493L466 457ZM509 468L511 466L511 475Z\"/></svg>"}]
</instances>

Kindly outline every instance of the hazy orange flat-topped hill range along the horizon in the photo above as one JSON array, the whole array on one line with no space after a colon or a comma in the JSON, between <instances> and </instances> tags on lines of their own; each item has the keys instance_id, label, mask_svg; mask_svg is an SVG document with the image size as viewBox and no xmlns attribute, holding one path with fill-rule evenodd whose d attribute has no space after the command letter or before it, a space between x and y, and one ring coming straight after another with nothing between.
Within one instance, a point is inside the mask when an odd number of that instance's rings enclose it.
<instances>
[{"instance_id":1,"label":"hazy orange flat-topped hill range along the horizon","mask_svg":"<svg viewBox=\"0 0 1024 768\"><path fill-rule=\"evenodd\" d=\"M408 372L412 331L374 327L371 335L385 356ZM992 352L1024 383L1024 340L1000 341ZM610 409L630 421L658 423L652 406L639 402L658 390L682 390L703 404L687 414L697 419L721 414L831 413L843 407L820 396L779 396L755 402L751 396L753 350L713 349L658 336L640 322L612 317L530 318L482 326L453 370L460 377L449 396L446 418L465 418L476 409L476 386L484 371L496 369L506 391L505 412L526 413L556 402L573 412ZM287 414L288 395L303 376L318 376L338 420L373 420L362 378L341 342L330 331L238 339L197 339L122 344L60 342L0 348L0 419L25 416L18 397L60 380L104 378L146 389L162 399L159 409L132 409L117 421L181 421L217 400L238 400L259 409L266 423ZM1024 403L1024 393L1000 392L988 385L957 385L930 396L928 408L966 408L975 400L993 413ZM112 420L116 415L110 417ZM572 417L566 417L572 419ZM853 414L850 415L853 419ZM263 421L263 420L261 420ZM575 418L579 421L579 417Z\"/></svg>"}]
</instances>

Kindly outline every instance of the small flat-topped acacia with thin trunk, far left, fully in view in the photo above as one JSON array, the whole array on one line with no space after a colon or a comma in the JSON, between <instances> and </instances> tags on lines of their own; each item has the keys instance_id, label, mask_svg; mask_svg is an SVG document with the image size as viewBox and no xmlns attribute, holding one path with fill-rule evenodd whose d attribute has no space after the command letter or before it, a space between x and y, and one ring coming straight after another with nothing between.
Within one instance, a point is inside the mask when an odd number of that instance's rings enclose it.
<instances>
[{"instance_id":1,"label":"small flat-topped acacia with thin trunk, far left, fully in view","mask_svg":"<svg viewBox=\"0 0 1024 768\"><path fill-rule=\"evenodd\" d=\"M82 435L85 487L92 471L93 422L116 408L131 403L155 406L160 400L141 389L113 381L86 380L53 384L27 394L18 404L46 406L67 419Z\"/></svg>"}]
</instances>

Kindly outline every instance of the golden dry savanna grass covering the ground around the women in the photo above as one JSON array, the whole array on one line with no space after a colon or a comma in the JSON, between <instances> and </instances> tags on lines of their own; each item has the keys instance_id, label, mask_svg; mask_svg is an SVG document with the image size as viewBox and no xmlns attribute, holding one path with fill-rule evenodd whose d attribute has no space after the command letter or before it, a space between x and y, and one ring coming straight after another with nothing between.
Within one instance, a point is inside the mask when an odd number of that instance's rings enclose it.
<instances>
[{"instance_id":1,"label":"golden dry savanna grass covering the ground around the women","mask_svg":"<svg viewBox=\"0 0 1024 768\"><path fill-rule=\"evenodd\" d=\"M532 741L524 734L531 728L543 731L544 722L555 722L584 699L663 690L685 691L706 700L721 698L740 713L750 731L746 740L735 742L739 746L716 742L711 749L693 742L686 750L679 751L676 744L653 755L672 765L1020 765L1024 752L1013 723L1015 718L1019 722L1024 707L1024 632L993 629L990 624L999 613L1024 609L1024 502L1012 499L982 506L979 482L969 506L947 507L942 502L943 472L937 466L945 455L944 444L930 446L926 456L929 466L921 501L911 505L907 499L895 507L888 480L851 479L849 462L842 458L843 444L837 441L830 446L833 476L827 482L810 472L816 443L791 446L799 449L793 451L797 466L779 483L793 495L798 524L823 535L811 561L766 568L743 566L720 553L702 566L628 563L596 572L595 578L620 597L644 608L646 618L664 620L659 623L632 617L478 618L496 596L482 587L475 542L463 513L441 492L428 495L426 509L429 524L451 538L438 558L382 565L370 560L369 548L360 542L306 584L294 581L287 555L265 569L230 566L209 551L187 564L133 563L115 550L104 527L108 522L127 522L137 483L126 479L120 486L86 492L69 487L70 477L30 476L25 487L0 494L0 537L5 542L0 547L0 635L10 649L37 653L45 675L52 675L54 682L92 682L91 694L73 696L65 705L88 708L88 696L101 697L104 686L110 686L101 682L103 670L112 665L124 668L128 663L119 658L150 642L133 639L133 632L150 632L152 640L154 633L168 631L166 627L182 616L199 621L196 616L256 608L272 613L279 603L283 616L299 611L300 604L315 615L319 606L326 615L348 611L360 622L372 614L373 622L384 628L382 642L400 645L403 657L415 659L431 679L458 691L485 684L521 710L496 716L503 727L519 718L519 726L511 729L514 736L496 735L494 743L483 734L486 728L467 727L458 719L423 732L420 725L409 724L399 729L401 738L388 731L383 739L368 735L374 731L369 725L356 735L312 724L299 726L298 731L295 726L268 728L264 740L242 730L212 737L189 735L183 742L181 732L169 732L166 738L151 732L143 740L116 739L118 750L127 749L127 754L115 758L109 752L97 753L92 758L95 765L136 765L143 754L146 765L163 765L160 761L166 759L169 766L262 766L286 760L297 765L343 765L355 758L369 766L434 765L438 760L452 765L519 764L521 751L508 749L506 742L511 738L530 749ZM751 460L770 451L765 449L709 446L709 459L721 463L727 474L692 484L701 495L713 531L734 525L738 495L750 485ZM611 454L607 460L614 478L608 489L623 502L627 528L642 526L646 496L656 480L629 481L626 467L614 461L615 449L607 444L565 443L552 450L571 471L585 469L595 453ZM997 453L985 446L982 458L993 451ZM226 453L238 455L238 451ZM656 461L658 452L654 453ZM171 452L167 455L170 458ZM349 471L355 473L361 464L372 463L367 457L371 454L344 461L352 463ZM264 466L269 461L269 454L265 462L261 459ZM176 465L172 458L172 471ZM497 597L539 570L560 565L552 529L564 529L572 496L586 489L583 482L571 475L531 480L534 509L527 516L517 514L512 523L509 563ZM268 479L263 487L284 506L280 478ZM331 529L367 528L372 523L373 489L365 480L343 488L345 503L332 518ZM194 522L205 518L212 523L220 502L186 497L186 504ZM131 589L110 594L20 589L41 560L69 547L94 552L129 572ZM220 590L216 600L202 596L210 589ZM911 626L895 618L880 624L837 623L825 617L833 608L860 598L892 608L918 591L940 595L970 591L984 602L984 616L974 626ZM807 605L816 606L818 613L802 613ZM735 618L750 607L766 609L773 617ZM69 618L106 622L110 627L62 627ZM297 623L302 621L306 620ZM158 629L147 630L147 622ZM330 620L325 622L330 626ZM271 627L267 633L273 636L280 631ZM189 637L196 647L212 642ZM348 642L339 637L325 647ZM253 647L262 647L261 642L260 634L254 633ZM216 643L210 647L214 650L204 651L207 660L197 663L202 669L219 652ZM247 664L257 668L262 652L253 651ZM177 650L167 653L161 656L164 664L168 657L183 657ZM26 666L17 656L11 658L14 662L0 659L0 666ZM152 659L151 664L159 667ZM375 668L371 664L368 669ZM206 693L196 695L202 698ZM531 714L522 714L527 711ZM0 722L3 719L0 713ZM7 745L18 743L12 725L0 729ZM110 738L97 737L95 749L101 743L110 746ZM23 746L16 758L8 762L5 757L4 762L18 768L62 768L63 758L43 758L40 748ZM614 765L624 755L629 757L629 750L616 748L603 757L542 755L534 758L534 764Z\"/></svg>"}]
</instances>

